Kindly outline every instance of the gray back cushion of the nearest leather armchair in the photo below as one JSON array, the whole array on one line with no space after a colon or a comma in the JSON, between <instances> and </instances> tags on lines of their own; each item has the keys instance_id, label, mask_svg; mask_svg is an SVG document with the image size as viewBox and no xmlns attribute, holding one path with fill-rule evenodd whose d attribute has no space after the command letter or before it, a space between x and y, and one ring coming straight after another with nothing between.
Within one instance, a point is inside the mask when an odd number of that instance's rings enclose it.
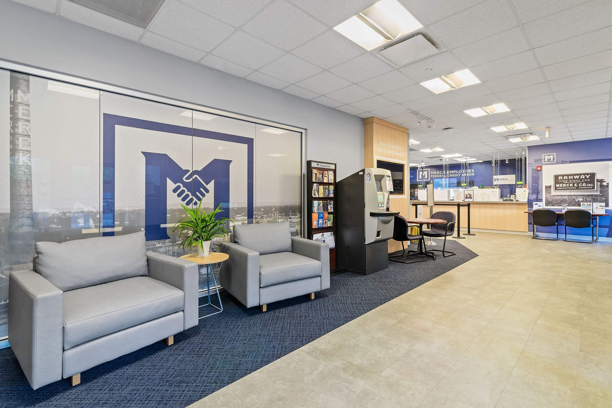
<instances>
[{"instance_id":1,"label":"gray back cushion of the nearest leather armchair","mask_svg":"<svg viewBox=\"0 0 612 408\"><path fill-rule=\"evenodd\" d=\"M64 292L148 274L144 231L36 242L34 250L34 270Z\"/></svg>"}]
</instances>

